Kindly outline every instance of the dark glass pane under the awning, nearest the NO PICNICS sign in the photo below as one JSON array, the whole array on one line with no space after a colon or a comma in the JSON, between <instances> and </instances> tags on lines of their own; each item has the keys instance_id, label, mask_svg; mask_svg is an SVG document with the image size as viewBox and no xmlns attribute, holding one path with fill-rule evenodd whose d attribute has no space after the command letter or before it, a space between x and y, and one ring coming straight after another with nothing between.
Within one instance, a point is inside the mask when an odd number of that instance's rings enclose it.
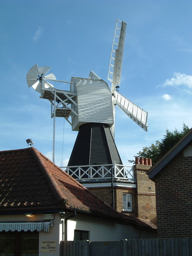
<instances>
[{"instance_id":1,"label":"dark glass pane under the awning, nearest the NO PICNICS sign","mask_svg":"<svg viewBox=\"0 0 192 256\"><path fill-rule=\"evenodd\" d=\"M38 234L21 234L21 255L33 254L38 255L39 235Z\"/></svg>"}]
</instances>

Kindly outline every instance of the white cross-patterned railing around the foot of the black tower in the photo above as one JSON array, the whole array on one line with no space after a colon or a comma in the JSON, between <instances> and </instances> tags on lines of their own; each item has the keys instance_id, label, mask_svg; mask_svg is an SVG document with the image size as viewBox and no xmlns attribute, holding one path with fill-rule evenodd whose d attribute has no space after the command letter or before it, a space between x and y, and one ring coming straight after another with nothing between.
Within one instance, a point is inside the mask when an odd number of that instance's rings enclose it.
<instances>
[{"instance_id":1,"label":"white cross-patterned railing around the foot of the black tower","mask_svg":"<svg viewBox=\"0 0 192 256\"><path fill-rule=\"evenodd\" d=\"M117 180L134 180L134 171L132 166L121 164L103 164L103 165L81 165L61 167L76 180L107 180L113 178Z\"/></svg>"}]
</instances>

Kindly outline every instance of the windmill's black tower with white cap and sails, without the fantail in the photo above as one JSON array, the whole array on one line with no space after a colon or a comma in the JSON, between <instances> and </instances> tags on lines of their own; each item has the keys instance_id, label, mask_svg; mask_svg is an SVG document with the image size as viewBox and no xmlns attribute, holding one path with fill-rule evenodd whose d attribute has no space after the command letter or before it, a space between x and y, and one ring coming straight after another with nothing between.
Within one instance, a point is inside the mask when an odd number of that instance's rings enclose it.
<instances>
[{"instance_id":1,"label":"windmill's black tower with white cap and sails, without the fantail","mask_svg":"<svg viewBox=\"0 0 192 256\"><path fill-rule=\"evenodd\" d=\"M108 71L111 90L93 71L88 79L71 79L70 91L77 93L78 103L78 106L72 104L78 112L78 116L72 114L72 130L79 130L79 133L69 166L123 164L114 141L115 106L147 131L147 112L117 91L121 82L125 33L126 23L117 20Z\"/></svg>"}]
</instances>

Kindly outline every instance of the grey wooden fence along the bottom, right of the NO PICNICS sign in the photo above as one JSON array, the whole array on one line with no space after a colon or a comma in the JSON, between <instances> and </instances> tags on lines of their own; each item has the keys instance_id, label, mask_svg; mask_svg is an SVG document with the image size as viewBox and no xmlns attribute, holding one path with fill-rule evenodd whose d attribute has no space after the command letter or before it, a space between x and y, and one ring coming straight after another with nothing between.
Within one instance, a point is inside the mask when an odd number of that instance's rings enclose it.
<instances>
[{"instance_id":1,"label":"grey wooden fence along the bottom, right of the NO PICNICS sign","mask_svg":"<svg viewBox=\"0 0 192 256\"><path fill-rule=\"evenodd\" d=\"M116 242L61 241L61 256L192 256L192 237Z\"/></svg>"}]
</instances>

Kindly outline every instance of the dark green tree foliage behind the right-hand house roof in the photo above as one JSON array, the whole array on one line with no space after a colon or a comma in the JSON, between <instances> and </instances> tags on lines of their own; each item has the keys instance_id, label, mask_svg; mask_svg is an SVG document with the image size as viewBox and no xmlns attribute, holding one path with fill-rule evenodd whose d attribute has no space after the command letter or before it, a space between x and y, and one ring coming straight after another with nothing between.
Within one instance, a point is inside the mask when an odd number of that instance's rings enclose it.
<instances>
[{"instance_id":1,"label":"dark green tree foliage behind the right-hand house roof","mask_svg":"<svg viewBox=\"0 0 192 256\"><path fill-rule=\"evenodd\" d=\"M150 147L144 147L142 151L137 153L135 157L151 158L152 164L155 164L170 148L172 148L187 132L189 128L186 124L183 124L183 129L179 132L175 129L170 132L166 129L166 134L164 139L161 141L156 140L155 144L151 144ZM135 162L135 160L129 160L130 163Z\"/></svg>"}]
</instances>

